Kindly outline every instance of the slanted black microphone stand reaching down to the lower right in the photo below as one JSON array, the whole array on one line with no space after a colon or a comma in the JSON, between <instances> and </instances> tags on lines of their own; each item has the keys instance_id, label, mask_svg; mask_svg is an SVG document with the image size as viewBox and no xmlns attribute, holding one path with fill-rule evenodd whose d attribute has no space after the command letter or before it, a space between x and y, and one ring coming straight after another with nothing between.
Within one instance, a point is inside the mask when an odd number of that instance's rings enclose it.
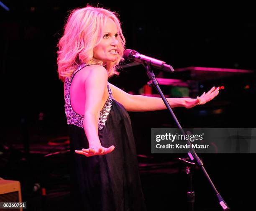
<instances>
[{"instance_id":1,"label":"slanted black microphone stand reaching down to the lower right","mask_svg":"<svg viewBox=\"0 0 256 211\"><path fill-rule=\"evenodd\" d=\"M186 133L184 132L184 130L182 129L181 125L179 124L179 121L177 119L177 117L175 116L174 112L172 111L171 106L169 105L167 99L164 97L163 92L161 91L160 87L159 87L159 83L155 78L155 74L154 72L151 70L151 65L150 65L150 61L143 61L143 66L146 68L147 70L147 75L149 78L148 81L148 86L154 86L157 90L157 92L160 94L161 98L164 101L164 104L166 105L167 109L169 110L169 112L172 114L172 117L174 118L176 124L178 125L179 129L181 130L183 135L186 135ZM220 193L218 193L217 189L215 188L214 184L212 183L212 180L210 178L210 176L208 175L207 171L205 170L205 167L203 166L203 162L202 160L198 157L197 153L195 152L195 150L192 147L192 144L190 142L190 140L187 140L187 144L189 144L191 146L191 151L188 152L189 158L191 160L195 160L197 161L197 164L200 166L200 168L202 169L203 173L205 174L207 180L209 181L210 185L213 188L213 191L215 192L215 194L218 197L220 206L223 208L223 210L227 211L230 210L230 208L228 207L227 203L223 200L223 198L220 196Z\"/></svg>"}]
</instances>

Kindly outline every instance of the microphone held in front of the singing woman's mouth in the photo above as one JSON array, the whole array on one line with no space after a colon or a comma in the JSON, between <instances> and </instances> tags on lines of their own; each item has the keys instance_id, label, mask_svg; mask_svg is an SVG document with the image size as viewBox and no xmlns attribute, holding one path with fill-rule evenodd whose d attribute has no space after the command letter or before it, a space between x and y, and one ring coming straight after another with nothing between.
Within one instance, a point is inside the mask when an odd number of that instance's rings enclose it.
<instances>
[{"instance_id":1,"label":"microphone held in front of the singing woman's mouth","mask_svg":"<svg viewBox=\"0 0 256 211\"><path fill-rule=\"evenodd\" d=\"M131 49L126 49L123 52L123 56L129 61L137 61L141 64L143 64L144 61L147 61L156 69L160 69L166 72L174 72L174 69L172 68L172 66L169 64L166 64L164 61L158 60L156 58L151 58L149 56L145 56Z\"/></svg>"}]
</instances>

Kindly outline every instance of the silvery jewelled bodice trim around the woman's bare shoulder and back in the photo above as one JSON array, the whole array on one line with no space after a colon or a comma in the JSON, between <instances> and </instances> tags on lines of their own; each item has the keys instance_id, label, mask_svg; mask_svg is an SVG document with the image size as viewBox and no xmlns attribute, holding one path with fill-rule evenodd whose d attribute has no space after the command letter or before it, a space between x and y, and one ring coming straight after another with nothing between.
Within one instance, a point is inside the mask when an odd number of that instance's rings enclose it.
<instances>
[{"instance_id":1,"label":"silvery jewelled bodice trim around the woman's bare shoulder and back","mask_svg":"<svg viewBox=\"0 0 256 211\"><path fill-rule=\"evenodd\" d=\"M70 101L70 86L71 86L71 82L72 79L74 77L74 75L81 70L82 68L84 68L85 66L88 66L86 64L82 64L81 66L79 66L74 73L70 76L65 78L65 91L64 91L64 98L65 98L65 113L67 116L67 124L68 125L76 125L78 127L83 127L83 122L84 122L84 115L80 115L77 114L76 112L74 112L72 106L71 106L71 101ZM110 114L110 110L111 110L111 106L112 106L112 92L111 89L109 87L109 84L107 83L108 86L108 100L106 101L104 107L102 108L102 110L100 111L100 118L99 118L99 122L98 122L98 129L102 130L102 128L105 126L105 123L107 121L108 115Z\"/></svg>"}]
</instances>

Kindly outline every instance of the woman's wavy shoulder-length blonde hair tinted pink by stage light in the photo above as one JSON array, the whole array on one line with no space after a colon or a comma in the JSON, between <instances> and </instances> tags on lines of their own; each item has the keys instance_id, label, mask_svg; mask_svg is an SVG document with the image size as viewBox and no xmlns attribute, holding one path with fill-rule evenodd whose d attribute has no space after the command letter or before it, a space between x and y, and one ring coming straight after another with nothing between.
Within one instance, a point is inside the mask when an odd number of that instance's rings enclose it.
<instances>
[{"instance_id":1,"label":"woman's wavy shoulder-length blonde hair tinted pink by stage light","mask_svg":"<svg viewBox=\"0 0 256 211\"><path fill-rule=\"evenodd\" d=\"M112 19L119 35L118 59L115 62L103 62L93 57L93 48L100 43L103 37L102 28L108 18ZM118 74L115 69L123 58L125 38L121 29L118 14L104 8L95 8L87 5L85 8L74 9L64 26L64 35L58 43L59 51L57 64L59 78L64 81L81 64L101 64L106 67L108 76Z\"/></svg>"}]
</instances>

